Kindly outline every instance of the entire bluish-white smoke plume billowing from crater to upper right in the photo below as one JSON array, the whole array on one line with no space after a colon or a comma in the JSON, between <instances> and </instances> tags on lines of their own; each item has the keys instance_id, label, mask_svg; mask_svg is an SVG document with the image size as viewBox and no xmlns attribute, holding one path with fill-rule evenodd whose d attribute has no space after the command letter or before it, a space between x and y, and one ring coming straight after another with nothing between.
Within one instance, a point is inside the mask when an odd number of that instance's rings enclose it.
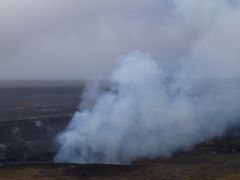
<instances>
[{"instance_id":1,"label":"entire bluish-white smoke plume billowing from crater to upper right","mask_svg":"<svg viewBox=\"0 0 240 180\"><path fill-rule=\"evenodd\" d=\"M174 55L130 53L109 76L109 89L87 88L79 111L57 137L55 161L117 164L169 156L238 123L239 3L173 5L161 32L169 32L163 33L166 40L177 39L175 48L163 42L166 54ZM172 58L170 68L164 57Z\"/></svg>"}]
</instances>

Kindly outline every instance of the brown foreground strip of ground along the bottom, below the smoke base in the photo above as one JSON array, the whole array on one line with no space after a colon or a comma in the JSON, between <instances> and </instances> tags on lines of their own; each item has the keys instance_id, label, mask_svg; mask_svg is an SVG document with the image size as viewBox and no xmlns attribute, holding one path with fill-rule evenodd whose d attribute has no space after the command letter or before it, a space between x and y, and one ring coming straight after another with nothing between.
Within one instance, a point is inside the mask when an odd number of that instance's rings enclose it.
<instances>
[{"instance_id":1,"label":"brown foreground strip of ground along the bottom, below the smoke base","mask_svg":"<svg viewBox=\"0 0 240 180\"><path fill-rule=\"evenodd\" d=\"M15 164L0 179L240 179L240 154L177 155L131 165Z\"/></svg>"}]
</instances>

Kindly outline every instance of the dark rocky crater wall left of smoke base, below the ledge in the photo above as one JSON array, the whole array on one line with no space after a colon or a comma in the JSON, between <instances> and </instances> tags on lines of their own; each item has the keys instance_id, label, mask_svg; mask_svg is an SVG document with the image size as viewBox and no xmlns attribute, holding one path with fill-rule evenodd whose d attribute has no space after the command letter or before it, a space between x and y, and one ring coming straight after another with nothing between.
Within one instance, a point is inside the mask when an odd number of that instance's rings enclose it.
<instances>
[{"instance_id":1,"label":"dark rocky crater wall left of smoke base, below the ledge","mask_svg":"<svg viewBox=\"0 0 240 180\"><path fill-rule=\"evenodd\" d=\"M0 161L52 161L57 150L54 139L70 119L71 116L60 116L0 122L0 132L4 132L0 138Z\"/></svg>"}]
</instances>

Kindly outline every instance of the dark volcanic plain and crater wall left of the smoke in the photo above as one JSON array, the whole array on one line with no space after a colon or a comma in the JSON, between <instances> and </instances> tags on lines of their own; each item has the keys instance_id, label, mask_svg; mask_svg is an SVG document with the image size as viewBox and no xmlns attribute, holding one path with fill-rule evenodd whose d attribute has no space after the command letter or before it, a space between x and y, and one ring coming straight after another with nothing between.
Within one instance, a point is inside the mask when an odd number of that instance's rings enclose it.
<instances>
[{"instance_id":1,"label":"dark volcanic plain and crater wall left of the smoke","mask_svg":"<svg viewBox=\"0 0 240 180\"><path fill-rule=\"evenodd\" d=\"M0 88L0 162L51 161L54 137L77 110L83 83Z\"/></svg>"}]
</instances>

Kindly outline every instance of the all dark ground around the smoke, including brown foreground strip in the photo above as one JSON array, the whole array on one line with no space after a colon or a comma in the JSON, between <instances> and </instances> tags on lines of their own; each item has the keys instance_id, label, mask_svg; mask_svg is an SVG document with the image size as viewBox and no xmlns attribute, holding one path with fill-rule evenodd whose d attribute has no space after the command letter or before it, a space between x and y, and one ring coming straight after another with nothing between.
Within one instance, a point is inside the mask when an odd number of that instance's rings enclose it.
<instances>
[{"instance_id":1,"label":"all dark ground around the smoke, including brown foreground strip","mask_svg":"<svg viewBox=\"0 0 240 180\"><path fill-rule=\"evenodd\" d=\"M54 138L78 109L84 83L1 84L0 179L240 177L240 126L170 158L139 159L124 166L53 164Z\"/></svg>"}]
</instances>

